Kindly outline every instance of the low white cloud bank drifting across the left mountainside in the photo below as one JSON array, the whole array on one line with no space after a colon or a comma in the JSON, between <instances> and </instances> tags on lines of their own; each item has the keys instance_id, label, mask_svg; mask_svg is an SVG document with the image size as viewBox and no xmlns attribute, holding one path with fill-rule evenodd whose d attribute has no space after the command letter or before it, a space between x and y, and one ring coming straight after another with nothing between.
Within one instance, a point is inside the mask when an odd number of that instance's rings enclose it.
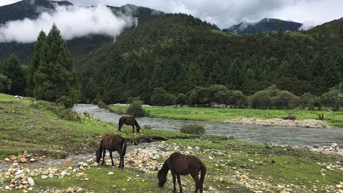
<instances>
[{"instance_id":1,"label":"low white cloud bank drifting across the left mountainside","mask_svg":"<svg viewBox=\"0 0 343 193\"><path fill-rule=\"evenodd\" d=\"M55 11L44 11L35 20L26 18L0 25L0 42L35 42L39 31L43 29L48 33L54 22L66 40L89 34L120 34L125 27L132 25L131 16L116 16L105 5L55 6Z\"/></svg>"}]
</instances>

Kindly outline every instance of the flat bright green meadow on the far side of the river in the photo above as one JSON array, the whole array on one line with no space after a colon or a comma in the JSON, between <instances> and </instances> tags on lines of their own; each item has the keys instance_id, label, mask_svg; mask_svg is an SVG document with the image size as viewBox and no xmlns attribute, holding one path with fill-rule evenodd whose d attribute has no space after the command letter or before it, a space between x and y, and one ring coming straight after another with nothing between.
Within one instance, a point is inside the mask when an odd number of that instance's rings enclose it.
<instances>
[{"instance_id":1,"label":"flat bright green meadow on the far side of the river","mask_svg":"<svg viewBox=\"0 0 343 193\"><path fill-rule=\"evenodd\" d=\"M324 114L324 121L332 126L343 127L343 110L329 112L328 108L322 110L269 110L269 109L229 109L229 108L210 108L210 107L144 107L150 111L153 117L201 120L201 121L225 121L236 117L256 117L262 120L270 118L282 118L289 114L297 116L297 120L315 119L319 120L318 115ZM110 106L110 109L126 111L127 106Z\"/></svg>"}]
</instances>

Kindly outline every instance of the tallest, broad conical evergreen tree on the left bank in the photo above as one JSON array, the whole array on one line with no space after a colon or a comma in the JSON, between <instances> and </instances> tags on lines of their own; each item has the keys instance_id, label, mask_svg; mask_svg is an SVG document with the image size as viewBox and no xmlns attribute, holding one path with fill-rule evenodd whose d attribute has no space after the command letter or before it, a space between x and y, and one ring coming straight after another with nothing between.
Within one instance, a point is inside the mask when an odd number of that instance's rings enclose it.
<instances>
[{"instance_id":1,"label":"tallest, broad conical evergreen tree on the left bank","mask_svg":"<svg viewBox=\"0 0 343 193\"><path fill-rule=\"evenodd\" d=\"M34 74L34 96L72 107L80 96L73 59L56 24L52 25L41 48L39 66Z\"/></svg>"}]
</instances>

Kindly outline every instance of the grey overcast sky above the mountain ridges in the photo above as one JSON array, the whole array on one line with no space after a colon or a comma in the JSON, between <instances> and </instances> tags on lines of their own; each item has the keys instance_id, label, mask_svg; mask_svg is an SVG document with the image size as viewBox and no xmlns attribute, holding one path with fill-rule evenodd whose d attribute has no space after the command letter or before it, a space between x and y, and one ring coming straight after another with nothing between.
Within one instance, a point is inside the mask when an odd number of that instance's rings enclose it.
<instances>
[{"instance_id":1,"label":"grey overcast sky above the mountain ridges","mask_svg":"<svg viewBox=\"0 0 343 193\"><path fill-rule=\"evenodd\" d=\"M0 6L19 0L0 0ZM263 18L318 25L343 16L343 0L69 0L79 5L127 3L164 12L188 13L220 28Z\"/></svg>"}]
</instances>

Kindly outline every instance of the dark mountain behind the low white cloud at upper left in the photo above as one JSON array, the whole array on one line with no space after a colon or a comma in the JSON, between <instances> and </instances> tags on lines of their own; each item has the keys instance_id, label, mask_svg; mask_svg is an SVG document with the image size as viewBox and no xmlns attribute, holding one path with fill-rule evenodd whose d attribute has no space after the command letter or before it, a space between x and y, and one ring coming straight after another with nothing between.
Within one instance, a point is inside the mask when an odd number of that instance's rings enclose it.
<instances>
[{"instance_id":1,"label":"dark mountain behind the low white cloud at upper left","mask_svg":"<svg viewBox=\"0 0 343 193\"><path fill-rule=\"evenodd\" d=\"M53 12L55 5L73 5L69 1L49 1L49 0L23 0L13 4L0 7L0 24L11 20L22 20L24 18L35 19L43 11ZM165 14L162 11L126 4L121 7L107 6L113 13L123 13L139 17L139 23ZM38 35L38 34L37 34ZM67 41L67 46L74 60L84 54L88 54L109 41L112 37L107 35L90 34L84 37L73 38ZM28 65L31 62L34 43L6 42L0 43L0 60L8 58L12 53L16 54L21 64Z\"/></svg>"}]
</instances>

